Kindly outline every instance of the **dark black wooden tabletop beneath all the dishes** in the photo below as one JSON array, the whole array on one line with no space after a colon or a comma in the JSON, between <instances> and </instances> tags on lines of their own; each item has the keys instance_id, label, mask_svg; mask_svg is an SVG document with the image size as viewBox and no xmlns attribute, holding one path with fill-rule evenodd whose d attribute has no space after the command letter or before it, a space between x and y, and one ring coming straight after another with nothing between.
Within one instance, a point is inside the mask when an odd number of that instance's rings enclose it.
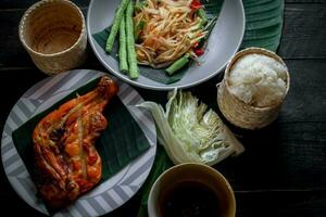
<instances>
[{"instance_id":1,"label":"dark black wooden tabletop beneath all the dishes","mask_svg":"<svg viewBox=\"0 0 326 217\"><path fill-rule=\"evenodd\" d=\"M18 22L35 0L0 1L0 131L20 97L46 78L17 37ZM88 0L75 1L87 13ZM237 216L326 216L326 1L287 0L278 54L291 75L291 88L278 119L240 136L246 152L215 166L231 183ZM104 71L92 52L82 68ZM191 91L216 108L218 76ZM9 85L9 87L8 87ZM166 92L137 90L164 102ZM1 216L41 216L11 188L0 169ZM108 216L136 216L140 193Z\"/></svg>"}]
</instances>

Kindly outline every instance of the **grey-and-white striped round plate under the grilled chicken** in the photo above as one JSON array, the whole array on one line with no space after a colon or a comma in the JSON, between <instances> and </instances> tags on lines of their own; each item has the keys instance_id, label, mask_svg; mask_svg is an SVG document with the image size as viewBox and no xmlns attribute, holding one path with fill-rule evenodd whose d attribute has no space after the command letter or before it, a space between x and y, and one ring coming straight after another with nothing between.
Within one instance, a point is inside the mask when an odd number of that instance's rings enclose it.
<instances>
[{"instance_id":1,"label":"grey-and-white striped round plate under the grilled chicken","mask_svg":"<svg viewBox=\"0 0 326 217\"><path fill-rule=\"evenodd\" d=\"M36 196L34 182L13 144L11 135L30 117L101 75L103 75L101 72L78 69L48 77L23 94L7 119L1 140L1 157L5 175L16 193L43 214L48 212L42 201ZM55 213L54 216L99 216L110 213L127 202L139 190L150 173L156 151L154 122L149 112L134 106L143 101L137 91L127 84L118 80L116 82L120 86L118 98L138 123L151 146L112 178L80 196L73 205Z\"/></svg>"}]
</instances>

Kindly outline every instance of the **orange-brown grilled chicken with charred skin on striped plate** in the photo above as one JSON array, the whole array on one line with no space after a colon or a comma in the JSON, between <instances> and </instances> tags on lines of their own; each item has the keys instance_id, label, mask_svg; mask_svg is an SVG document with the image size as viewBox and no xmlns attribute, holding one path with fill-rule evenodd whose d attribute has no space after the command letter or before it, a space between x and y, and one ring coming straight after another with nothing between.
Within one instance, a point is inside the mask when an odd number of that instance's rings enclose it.
<instances>
[{"instance_id":1,"label":"orange-brown grilled chicken with charred skin on striped plate","mask_svg":"<svg viewBox=\"0 0 326 217\"><path fill-rule=\"evenodd\" d=\"M95 142L108 125L104 106L117 90L103 76L96 89L65 102L34 129L37 186L50 207L70 204L100 181L102 162Z\"/></svg>"}]
</instances>

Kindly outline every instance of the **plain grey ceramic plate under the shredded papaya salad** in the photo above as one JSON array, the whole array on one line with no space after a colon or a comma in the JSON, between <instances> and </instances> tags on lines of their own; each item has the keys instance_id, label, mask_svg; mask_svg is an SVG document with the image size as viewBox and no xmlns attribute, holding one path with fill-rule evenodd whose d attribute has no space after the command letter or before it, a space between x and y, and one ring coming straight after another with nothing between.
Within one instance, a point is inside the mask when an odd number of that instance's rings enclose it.
<instances>
[{"instance_id":1,"label":"plain grey ceramic plate under the shredded papaya salad","mask_svg":"<svg viewBox=\"0 0 326 217\"><path fill-rule=\"evenodd\" d=\"M224 0L218 21L210 36L208 49L201 56L202 65L192 64L184 78L172 85L164 85L143 76L131 80L121 74L118 62L108 55L96 42L92 35L112 24L115 9L121 0L91 0L87 14L88 38L90 46L100 62L114 75L131 85L155 90L171 90L173 88L188 88L203 82L217 75L229 59L238 51L244 33L244 10L241 0Z\"/></svg>"}]
</instances>

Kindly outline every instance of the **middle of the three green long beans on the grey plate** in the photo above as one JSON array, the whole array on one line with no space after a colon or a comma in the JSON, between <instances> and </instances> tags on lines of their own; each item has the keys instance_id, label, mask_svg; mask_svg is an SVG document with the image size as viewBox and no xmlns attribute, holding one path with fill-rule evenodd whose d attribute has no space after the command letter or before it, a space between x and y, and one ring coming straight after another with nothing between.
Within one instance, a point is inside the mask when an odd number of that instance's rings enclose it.
<instances>
[{"instance_id":1,"label":"middle of the three green long beans on the grey plate","mask_svg":"<svg viewBox=\"0 0 326 217\"><path fill-rule=\"evenodd\" d=\"M127 73L128 63L127 63L127 39L126 39L125 16L123 16L123 18L121 20L118 34L120 34L120 47L118 47L120 69L123 73Z\"/></svg>"}]
</instances>

